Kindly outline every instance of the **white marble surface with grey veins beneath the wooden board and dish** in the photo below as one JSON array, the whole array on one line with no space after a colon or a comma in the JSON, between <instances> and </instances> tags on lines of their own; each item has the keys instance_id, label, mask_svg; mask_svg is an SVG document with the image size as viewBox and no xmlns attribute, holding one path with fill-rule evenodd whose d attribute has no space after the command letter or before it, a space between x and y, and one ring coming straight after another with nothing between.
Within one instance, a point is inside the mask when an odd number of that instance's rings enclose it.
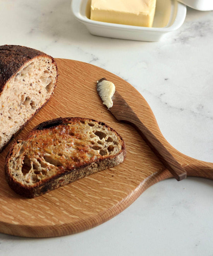
<instances>
[{"instance_id":1,"label":"white marble surface with grey veins beneath the wooden board and dish","mask_svg":"<svg viewBox=\"0 0 213 256\"><path fill-rule=\"evenodd\" d=\"M165 138L213 162L213 12L187 8L184 24L161 42L92 36L70 0L1 0L0 45L89 62L131 83L151 106ZM0 234L0 255L213 255L213 182L169 179L129 208L85 232L50 239Z\"/></svg>"}]
</instances>

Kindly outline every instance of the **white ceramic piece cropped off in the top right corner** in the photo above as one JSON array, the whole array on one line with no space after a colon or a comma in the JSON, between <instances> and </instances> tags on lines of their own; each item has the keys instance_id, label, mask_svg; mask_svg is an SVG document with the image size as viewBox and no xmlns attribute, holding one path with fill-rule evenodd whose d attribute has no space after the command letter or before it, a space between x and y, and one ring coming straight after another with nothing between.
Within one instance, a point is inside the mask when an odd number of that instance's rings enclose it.
<instances>
[{"instance_id":1,"label":"white ceramic piece cropped off in the top right corner","mask_svg":"<svg viewBox=\"0 0 213 256\"><path fill-rule=\"evenodd\" d=\"M213 0L179 0L187 6L201 11L213 10Z\"/></svg>"}]
</instances>

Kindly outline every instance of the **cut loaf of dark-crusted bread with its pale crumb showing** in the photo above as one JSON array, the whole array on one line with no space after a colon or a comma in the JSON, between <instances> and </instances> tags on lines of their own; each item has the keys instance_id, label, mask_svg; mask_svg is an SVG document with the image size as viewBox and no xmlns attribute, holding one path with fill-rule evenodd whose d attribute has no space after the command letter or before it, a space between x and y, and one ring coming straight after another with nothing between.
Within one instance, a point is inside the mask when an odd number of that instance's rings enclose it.
<instances>
[{"instance_id":1,"label":"cut loaf of dark-crusted bread with its pale crumb showing","mask_svg":"<svg viewBox=\"0 0 213 256\"><path fill-rule=\"evenodd\" d=\"M0 46L0 150L52 96L55 60L19 45Z\"/></svg>"}]
</instances>

